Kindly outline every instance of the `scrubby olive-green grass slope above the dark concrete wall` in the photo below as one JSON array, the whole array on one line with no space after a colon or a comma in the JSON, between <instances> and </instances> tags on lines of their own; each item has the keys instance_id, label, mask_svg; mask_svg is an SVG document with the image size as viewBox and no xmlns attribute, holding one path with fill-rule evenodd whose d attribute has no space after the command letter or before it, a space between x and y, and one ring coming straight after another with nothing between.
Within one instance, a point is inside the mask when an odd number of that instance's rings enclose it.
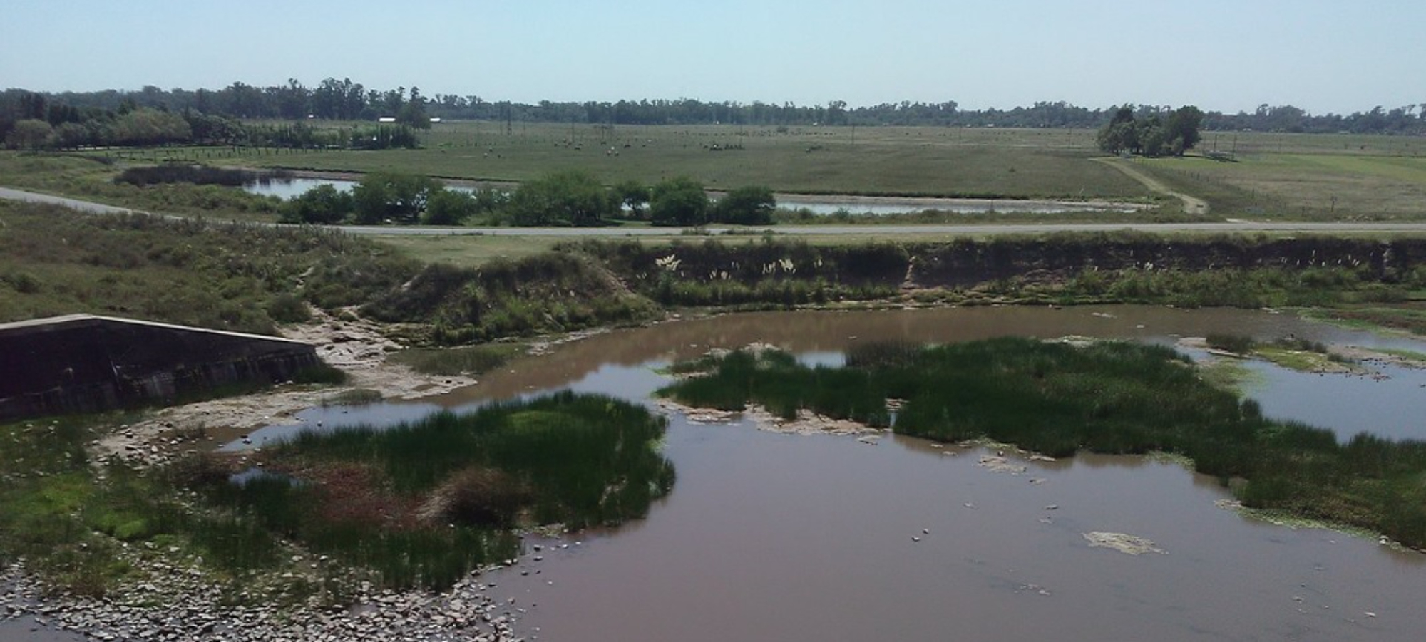
<instances>
[{"instance_id":1,"label":"scrubby olive-green grass slope above the dark concrete wall","mask_svg":"<svg viewBox=\"0 0 1426 642\"><path fill-rule=\"evenodd\" d=\"M91 312L272 334L358 305L419 264L314 228L83 215L0 201L0 321Z\"/></svg>"}]
</instances>

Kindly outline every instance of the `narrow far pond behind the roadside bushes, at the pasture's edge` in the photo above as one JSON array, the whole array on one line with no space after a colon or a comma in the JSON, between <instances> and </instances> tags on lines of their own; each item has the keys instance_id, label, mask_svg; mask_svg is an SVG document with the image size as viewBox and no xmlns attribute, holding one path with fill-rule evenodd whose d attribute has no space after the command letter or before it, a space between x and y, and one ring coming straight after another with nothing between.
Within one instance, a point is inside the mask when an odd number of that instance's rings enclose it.
<instances>
[{"instance_id":1,"label":"narrow far pond behind the roadside bushes, at the pasture's edge","mask_svg":"<svg viewBox=\"0 0 1426 642\"><path fill-rule=\"evenodd\" d=\"M349 191L356 181L341 178L289 178L250 183L244 190L292 198L317 185L334 185L341 191ZM473 191L475 188L459 184L446 187L459 191ZM1111 203L1070 203L1070 201L1028 201L1028 200L985 200L985 198L897 198L897 197L814 197L810 194L786 194L777 198L781 210L807 210L817 215L837 213L847 214L907 214L923 210L935 210L948 214L984 214L984 213L1028 213L1028 214L1061 214L1071 211L1107 211L1131 213L1141 207L1135 204Z\"/></svg>"}]
</instances>

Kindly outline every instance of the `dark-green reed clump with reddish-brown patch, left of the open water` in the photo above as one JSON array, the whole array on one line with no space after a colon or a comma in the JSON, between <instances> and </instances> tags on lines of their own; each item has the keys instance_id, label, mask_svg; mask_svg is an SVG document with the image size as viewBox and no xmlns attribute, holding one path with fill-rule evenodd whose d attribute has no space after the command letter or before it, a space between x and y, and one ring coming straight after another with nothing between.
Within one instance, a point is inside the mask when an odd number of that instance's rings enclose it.
<instances>
[{"instance_id":1,"label":"dark-green reed clump with reddish-brown patch, left of the open water","mask_svg":"<svg viewBox=\"0 0 1426 642\"><path fill-rule=\"evenodd\" d=\"M228 531L292 539L386 586L441 588L508 558L513 525L642 518L673 484L655 449L662 435L642 407L565 392L391 429L305 432L264 454L282 475L187 479L238 516Z\"/></svg>"}]
</instances>

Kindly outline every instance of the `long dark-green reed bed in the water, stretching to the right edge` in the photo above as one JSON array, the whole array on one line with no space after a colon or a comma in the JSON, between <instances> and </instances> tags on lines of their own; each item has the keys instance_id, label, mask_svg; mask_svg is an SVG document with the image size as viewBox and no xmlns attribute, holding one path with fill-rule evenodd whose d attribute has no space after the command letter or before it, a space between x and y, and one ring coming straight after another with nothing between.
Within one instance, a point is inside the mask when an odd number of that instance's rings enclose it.
<instances>
[{"instance_id":1,"label":"long dark-green reed bed in the water, stretching to the right edge","mask_svg":"<svg viewBox=\"0 0 1426 642\"><path fill-rule=\"evenodd\" d=\"M1265 419L1258 404L1204 382L1164 347L1004 338L923 348L876 344L843 368L780 352L684 364L712 370L660 391L720 409L760 404L935 441L990 438L1052 457L1079 449L1169 452L1215 475L1251 508L1368 528L1426 546L1426 444ZM904 399L893 412L887 399Z\"/></svg>"}]
</instances>

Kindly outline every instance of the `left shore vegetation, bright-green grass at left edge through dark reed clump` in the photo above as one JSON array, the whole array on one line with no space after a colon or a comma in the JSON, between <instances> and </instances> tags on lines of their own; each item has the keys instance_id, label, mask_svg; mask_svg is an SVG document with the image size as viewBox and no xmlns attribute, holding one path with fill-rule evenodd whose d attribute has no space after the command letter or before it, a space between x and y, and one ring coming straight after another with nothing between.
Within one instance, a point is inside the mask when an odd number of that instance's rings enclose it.
<instances>
[{"instance_id":1,"label":"left shore vegetation, bright-green grass at left edge through dark reed clump","mask_svg":"<svg viewBox=\"0 0 1426 642\"><path fill-rule=\"evenodd\" d=\"M307 434L264 452L268 474L245 484L218 455L96 474L84 424L0 427L0 562L24 556L80 593L141 576L157 555L250 603L342 603L361 581L441 588L512 556L515 526L639 518L673 484L655 451L663 421L596 395ZM331 561L297 564L318 556Z\"/></svg>"}]
</instances>

